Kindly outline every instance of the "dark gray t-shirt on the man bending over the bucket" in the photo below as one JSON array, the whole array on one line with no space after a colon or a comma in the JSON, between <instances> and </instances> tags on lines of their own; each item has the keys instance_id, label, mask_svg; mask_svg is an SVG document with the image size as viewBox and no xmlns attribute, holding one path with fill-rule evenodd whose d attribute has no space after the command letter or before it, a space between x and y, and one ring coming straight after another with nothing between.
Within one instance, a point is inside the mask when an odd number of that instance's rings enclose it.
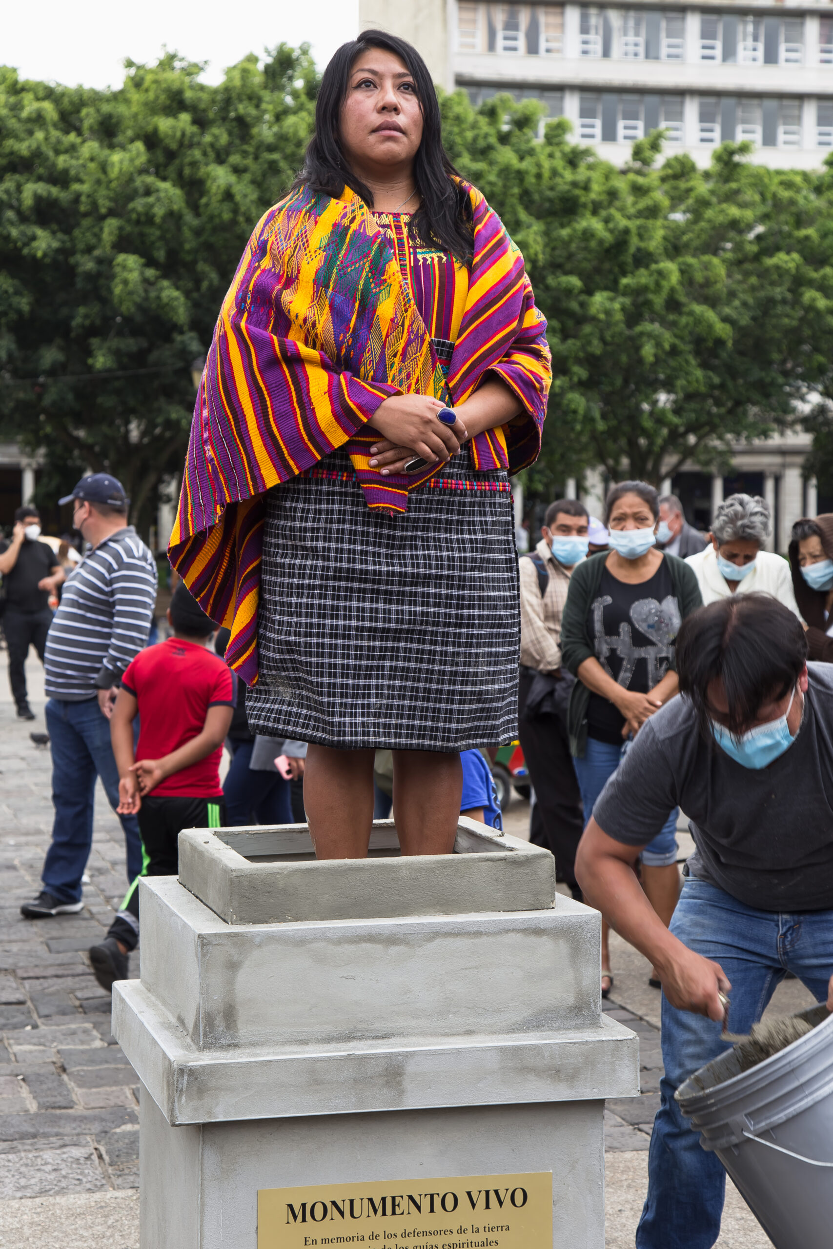
<instances>
[{"instance_id":1,"label":"dark gray t-shirt on the man bending over the bucket","mask_svg":"<svg viewBox=\"0 0 833 1249\"><path fill-rule=\"evenodd\" d=\"M672 698L602 789L599 828L646 846L679 806L697 846L692 876L759 911L833 908L833 664L807 669L798 736L758 772L706 741L688 699Z\"/></svg>"}]
</instances>

